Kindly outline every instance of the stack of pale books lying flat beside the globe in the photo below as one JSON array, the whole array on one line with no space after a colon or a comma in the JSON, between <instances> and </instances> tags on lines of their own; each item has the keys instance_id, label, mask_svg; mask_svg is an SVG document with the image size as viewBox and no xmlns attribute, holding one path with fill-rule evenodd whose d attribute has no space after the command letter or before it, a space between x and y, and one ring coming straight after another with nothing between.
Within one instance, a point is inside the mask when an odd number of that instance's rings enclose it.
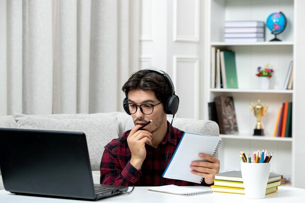
<instances>
[{"instance_id":1,"label":"stack of pale books lying flat beside the globe","mask_svg":"<svg viewBox=\"0 0 305 203\"><path fill-rule=\"evenodd\" d=\"M233 20L225 22L226 42L265 41L265 22L254 20Z\"/></svg>"}]
</instances>

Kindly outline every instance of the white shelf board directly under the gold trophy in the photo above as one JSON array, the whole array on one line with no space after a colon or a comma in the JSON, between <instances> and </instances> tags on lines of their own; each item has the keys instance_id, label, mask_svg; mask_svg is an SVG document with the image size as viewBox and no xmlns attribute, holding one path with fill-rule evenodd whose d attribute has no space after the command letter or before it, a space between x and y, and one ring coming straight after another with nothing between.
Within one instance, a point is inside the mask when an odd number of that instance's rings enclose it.
<instances>
[{"instance_id":1,"label":"white shelf board directly under the gold trophy","mask_svg":"<svg viewBox=\"0 0 305 203\"><path fill-rule=\"evenodd\" d=\"M238 140L265 140L265 141L281 141L292 142L291 137L271 137L271 136L253 136L248 134L220 134L224 139L238 139Z\"/></svg>"}]
</instances>

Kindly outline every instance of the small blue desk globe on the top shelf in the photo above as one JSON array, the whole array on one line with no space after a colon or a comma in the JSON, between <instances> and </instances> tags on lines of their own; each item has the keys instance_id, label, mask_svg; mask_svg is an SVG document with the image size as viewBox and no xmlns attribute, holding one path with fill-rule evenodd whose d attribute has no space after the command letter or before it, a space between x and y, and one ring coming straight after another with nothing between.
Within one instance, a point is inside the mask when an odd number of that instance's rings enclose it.
<instances>
[{"instance_id":1,"label":"small blue desk globe on the top shelf","mask_svg":"<svg viewBox=\"0 0 305 203\"><path fill-rule=\"evenodd\" d=\"M276 35L285 30L286 24L287 20L282 12L275 12L268 16L266 26L271 31L271 34L274 35L274 38L270 41L282 41L281 39L276 38Z\"/></svg>"}]
</instances>

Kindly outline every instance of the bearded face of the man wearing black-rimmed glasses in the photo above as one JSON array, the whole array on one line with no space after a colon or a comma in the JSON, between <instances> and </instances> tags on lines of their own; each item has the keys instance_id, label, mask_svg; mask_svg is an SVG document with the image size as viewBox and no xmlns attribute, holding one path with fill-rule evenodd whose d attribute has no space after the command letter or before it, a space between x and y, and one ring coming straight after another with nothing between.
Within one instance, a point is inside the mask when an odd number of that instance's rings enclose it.
<instances>
[{"instance_id":1,"label":"bearded face of the man wearing black-rimmed glasses","mask_svg":"<svg viewBox=\"0 0 305 203\"><path fill-rule=\"evenodd\" d=\"M132 103L134 105L142 105L142 104L150 104L155 105L160 103L161 101L158 100L155 96L153 91L143 91L143 90L130 90L128 92L128 103ZM153 120L152 123L144 127L145 130L150 131L153 133L160 126L166 125L166 113L164 112L163 104L159 104L153 107L152 114L146 115L140 111L138 107L137 111L132 114L133 123L134 125L143 125L149 120Z\"/></svg>"}]
</instances>

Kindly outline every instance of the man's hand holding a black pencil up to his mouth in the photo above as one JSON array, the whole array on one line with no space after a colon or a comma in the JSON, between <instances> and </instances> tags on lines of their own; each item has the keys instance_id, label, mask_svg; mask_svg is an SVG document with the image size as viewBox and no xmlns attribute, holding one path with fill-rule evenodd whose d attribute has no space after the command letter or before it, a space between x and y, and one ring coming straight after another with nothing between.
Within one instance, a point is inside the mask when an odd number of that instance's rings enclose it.
<instances>
[{"instance_id":1,"label":"man's hand holding a black pencil up to his mouth","mask_svg":"<svg viewBox=\"0 0 305 203\"><path fill-rule=\"evenodd\" d=\"M142 125L136 125L129 133L127 143L132 153L130 163L136 169L141 169L146 158L145 143L152 145L152 133L147 130L139 130Z\"/></svg>"}]
</instances>

